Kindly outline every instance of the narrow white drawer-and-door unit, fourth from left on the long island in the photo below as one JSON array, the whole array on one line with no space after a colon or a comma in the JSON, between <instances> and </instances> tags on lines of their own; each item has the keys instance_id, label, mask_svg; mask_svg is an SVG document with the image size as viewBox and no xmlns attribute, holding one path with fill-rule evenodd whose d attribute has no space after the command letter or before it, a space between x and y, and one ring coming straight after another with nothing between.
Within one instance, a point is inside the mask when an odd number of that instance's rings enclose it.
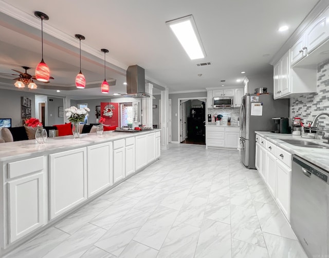
<instances>
[{"instance_id":1,"label":"narrow white drawer-and-door unit, fourth from left on the long island","mask_svg":"<svg viewBox=\"0 0 329 258\"><path fill-rule=\"evenodd\" d=\"M125 177L125 141L113 142L113 182L116 183Z\"/></svg>"}]
</instances>

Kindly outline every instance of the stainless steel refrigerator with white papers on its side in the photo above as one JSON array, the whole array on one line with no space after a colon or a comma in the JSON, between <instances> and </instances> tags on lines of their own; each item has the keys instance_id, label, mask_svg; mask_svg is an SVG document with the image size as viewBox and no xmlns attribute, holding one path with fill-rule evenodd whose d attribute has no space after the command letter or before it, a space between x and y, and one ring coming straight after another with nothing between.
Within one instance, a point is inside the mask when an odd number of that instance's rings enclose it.
<instances>
[{"instance_id":1,"label":"stainless steel refrigerator with white papers on its side","mask_svg":"<svg viewBox=\"0 0 329 258\"><path fill-rule=\"evenodd\" d=\"M240 108L240 158L247 168L255 168L255 131L275 131L273 117L289 117L289 99L273 100L273 94L249 94Z\"/></svg>"}]
</instances>

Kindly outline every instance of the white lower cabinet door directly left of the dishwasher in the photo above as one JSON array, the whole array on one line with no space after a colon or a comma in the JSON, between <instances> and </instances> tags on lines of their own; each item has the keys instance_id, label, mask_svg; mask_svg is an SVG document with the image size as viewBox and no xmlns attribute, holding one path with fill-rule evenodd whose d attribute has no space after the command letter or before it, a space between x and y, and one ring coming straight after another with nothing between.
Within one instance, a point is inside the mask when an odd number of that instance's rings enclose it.
<instances>
[{"instance_id":1,"label":"white lower cabinet door directly left of the dishwasher","mask_svg":"<svg viewBox=\"0 0 329 258\"><path fill-rule=\"evenodd\" d=\"M290 177L291 169L281 161L276 162L277 188L276 201L289 221L290 216Z\"/></svg>"}]
</instances>

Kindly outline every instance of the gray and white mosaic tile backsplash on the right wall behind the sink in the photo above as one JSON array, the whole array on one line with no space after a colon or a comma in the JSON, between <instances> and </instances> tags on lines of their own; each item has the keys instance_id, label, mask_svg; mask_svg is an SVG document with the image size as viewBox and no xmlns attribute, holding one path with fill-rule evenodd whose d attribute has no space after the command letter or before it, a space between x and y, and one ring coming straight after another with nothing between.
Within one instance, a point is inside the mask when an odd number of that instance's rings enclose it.
<instances>
[{"instance_id":1,"label":"gray and white mosaic tile backsplash on the right wall behind the sink","mask_svg":"<svg viewBox=\"0 0 329 258\"><path fill-rule=\"evenodd\" d=\"M318 65L317 92L292 97L291 117L300 117L307 125L320 113L329 113L329 59ZM317 127L329 129L329 117L320 116Z\"/></svg>"}]
</instances>

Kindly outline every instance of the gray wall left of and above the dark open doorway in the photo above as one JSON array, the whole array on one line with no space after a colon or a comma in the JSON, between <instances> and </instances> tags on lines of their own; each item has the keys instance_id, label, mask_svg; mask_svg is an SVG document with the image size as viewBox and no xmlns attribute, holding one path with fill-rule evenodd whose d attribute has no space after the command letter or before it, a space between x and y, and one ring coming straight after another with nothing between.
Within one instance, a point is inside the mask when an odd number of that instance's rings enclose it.
<instances>
[{"instance_id":1,"label":"gray wall left of and above the dark open doorway","mask_svg":"<svg viewBox=\"0 0 329 258\"><path fill-rule=\"evenodd\" d=\"M171 140L173 142L178 142L178 98L186 97L207 98L207 91L169 94L169 98L171 98Z\"/></svg>"}]
</instances>

